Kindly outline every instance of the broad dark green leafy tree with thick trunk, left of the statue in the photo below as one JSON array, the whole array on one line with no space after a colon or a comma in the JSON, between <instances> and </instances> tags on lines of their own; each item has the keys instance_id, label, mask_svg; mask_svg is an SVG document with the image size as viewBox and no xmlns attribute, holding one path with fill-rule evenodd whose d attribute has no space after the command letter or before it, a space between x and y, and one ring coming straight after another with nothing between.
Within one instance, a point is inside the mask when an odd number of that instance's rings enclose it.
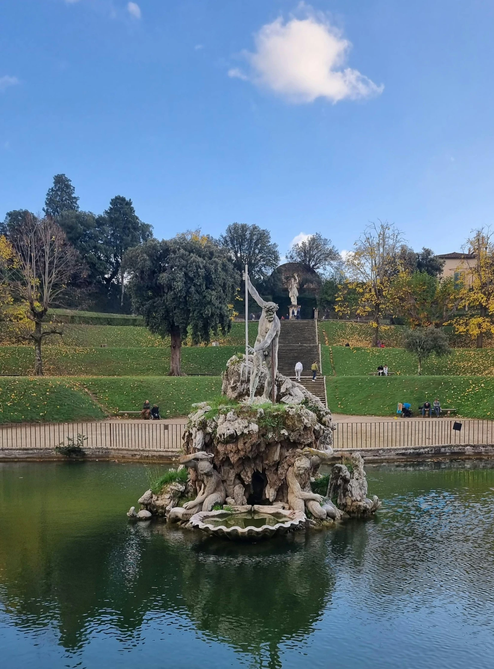
<instances>
[{"instance_id":1,"label":"broad dark green leafy tree with thick trunk, left of the statue","mask_svg":"<svg viewBox=\"0 0 494 669\"><path fill-rule=\"evenodd\" d=\"M155 334L171 338L170 376L180 376L181 343L210 341L231 327L232 301L240 276L228 253L208 239L177 235L148 240L127 252L129 294Z\"/></svg>"}]
</instances>

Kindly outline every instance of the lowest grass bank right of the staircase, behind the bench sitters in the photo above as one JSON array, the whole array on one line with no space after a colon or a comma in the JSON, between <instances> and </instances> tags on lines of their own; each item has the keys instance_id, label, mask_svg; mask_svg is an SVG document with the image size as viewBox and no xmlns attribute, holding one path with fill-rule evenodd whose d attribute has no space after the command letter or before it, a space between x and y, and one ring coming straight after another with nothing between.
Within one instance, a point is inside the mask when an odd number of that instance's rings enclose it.
<instances>
[{"instance_id":1,"label":"lowest grass bank right of the staircase, behind the bench sitters","mask_svg":"<svg viewBox=\"0 0 494 669\"><path fill-rule=\"evenodd\" d=\"M327 377L331 411L349 415L389 416L398 402L410 402L417 413L425 400L440 399L471 418L494 418L494 378L461 376Z\"/></svg>"}]
</instances>

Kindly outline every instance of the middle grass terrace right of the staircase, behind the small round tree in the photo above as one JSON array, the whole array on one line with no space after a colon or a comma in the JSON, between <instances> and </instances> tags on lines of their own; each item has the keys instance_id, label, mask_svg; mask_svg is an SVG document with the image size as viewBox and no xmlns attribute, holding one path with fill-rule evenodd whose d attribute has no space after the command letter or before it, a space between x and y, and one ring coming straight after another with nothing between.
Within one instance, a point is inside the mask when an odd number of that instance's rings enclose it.
<instances>
[{"instance_id":1,"label":"middle grass terrace right of the staircase, behind the small round tree","mask_svg":"<svg viewBox=\"0 0 494 669\"><path fill-rule=\"evenodd\" d=\"M333 365L331 367L331 353ZM377 370L378 365L388 365L390 371L400 375L417 374L416 358L404 349L352 349L333 346L321 347L323 373L337 376L368 375ZM494 376L493 349L452 349L450 355L438 358L432 355L422 364L422 374Z\"/></svg>"}]
</instances>

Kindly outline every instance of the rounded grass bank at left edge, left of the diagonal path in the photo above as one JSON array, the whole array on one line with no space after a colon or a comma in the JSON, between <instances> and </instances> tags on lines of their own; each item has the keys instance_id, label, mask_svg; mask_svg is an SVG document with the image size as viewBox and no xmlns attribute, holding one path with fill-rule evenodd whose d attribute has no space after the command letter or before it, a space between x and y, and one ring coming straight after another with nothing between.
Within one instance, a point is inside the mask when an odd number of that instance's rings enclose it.
<instances>
[{"instance_id":1,"label":"rounded grass bank at left edge, left of the diagonal path","mask_svg":"<svg viewBox=\"0 0 494 669\"><path fill-rule=\"evenodd\" d=\"M104 411L72 380L0 379L0 423L102 420Z\"/></svg>"}]
</instances>

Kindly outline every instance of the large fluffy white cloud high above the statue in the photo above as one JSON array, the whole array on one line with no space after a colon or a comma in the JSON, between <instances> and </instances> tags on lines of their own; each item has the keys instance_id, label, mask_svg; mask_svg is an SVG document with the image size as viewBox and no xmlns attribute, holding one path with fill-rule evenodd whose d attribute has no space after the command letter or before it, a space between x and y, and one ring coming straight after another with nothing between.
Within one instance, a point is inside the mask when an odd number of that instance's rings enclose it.
<instances>
[{"instance_id":1,"label":"large fluffy white cloud high above the statue","mask_svg":"<svg viewBox=\"0 0 494 669\"><path fill-rule=\"evenodd\" d=\"M235 68L228 76L248 79L291 102L322 97L335 103L378 95L384 89L358 70L343 68L351 43L329 22L313 15L266 23L254 41L255 52L243 54L250 72Z\"/></svg>"}]
</instances>

